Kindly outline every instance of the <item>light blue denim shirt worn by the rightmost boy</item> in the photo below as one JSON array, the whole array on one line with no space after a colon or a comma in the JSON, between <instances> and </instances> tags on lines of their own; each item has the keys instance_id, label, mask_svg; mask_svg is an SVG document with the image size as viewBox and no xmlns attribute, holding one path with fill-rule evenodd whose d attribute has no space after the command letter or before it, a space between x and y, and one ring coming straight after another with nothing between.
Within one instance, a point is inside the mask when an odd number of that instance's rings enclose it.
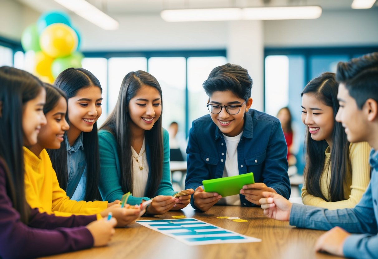
<instances>
[{"instance_id":1,"label":"light blue denim shirt worn by the rightmost boy","mask_svg":"<svg viewBox=\"0 0 378 259\"><path fill-rule=\"evenodd\" d=\"M319 230L330 230L339 226L350 233L358 233L345 239L344 256L358 259L378 258L378 151L371 151L369 163L372 167L371 180L355 208L327 210L293 204L290 225Z\"/></svg>"}]
</instances>

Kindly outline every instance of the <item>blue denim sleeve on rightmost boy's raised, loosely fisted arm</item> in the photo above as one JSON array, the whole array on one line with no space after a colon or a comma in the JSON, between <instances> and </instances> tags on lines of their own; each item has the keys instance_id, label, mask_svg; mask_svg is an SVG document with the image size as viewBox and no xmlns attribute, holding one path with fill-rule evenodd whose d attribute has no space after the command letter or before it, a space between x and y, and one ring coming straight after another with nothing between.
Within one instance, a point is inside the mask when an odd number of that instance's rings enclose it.
<instances>
[{"instance_id":1,"label":"blue denim sleeve on rightmost boy's raised, loosely fisted arm","mask_svg":"<svg viewBox=\"0 0 378 259\"><path fill-rule=\"evenodd\" d=\"M293 204L290 225L300 228L330 230L341 227L350 233L377 233L372 205L371 184L359 204L353 209L328 210L325 208Z\"/></svg>"}]
</instances>

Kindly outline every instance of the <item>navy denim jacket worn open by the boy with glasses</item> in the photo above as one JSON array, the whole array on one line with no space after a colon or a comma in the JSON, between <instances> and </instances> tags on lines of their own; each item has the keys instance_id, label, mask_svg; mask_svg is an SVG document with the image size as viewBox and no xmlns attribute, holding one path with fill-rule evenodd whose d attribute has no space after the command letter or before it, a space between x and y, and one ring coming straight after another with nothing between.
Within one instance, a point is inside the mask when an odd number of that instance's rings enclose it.
<instances>
[{"instance_id":1,"label":"navy denim jacket worn open by the boy with glasses","mask_svg":"<svg viewBox=\"0 0 378 259\"><path fill-rule=\"evenodd\" d=\"M187 153L185 188L194 190L202 180L221 178L225 168L226 144L222 132L205 115L192 123ZM239 174L252 172L255 182L265 183L285 198L290 196L287 174L287 145L279 120L249 109L244 116L243 134L237 146ZM257 205L240 195L242 206ZM191 199L194 205L193 196Z\"/></svg>"}]
</instances>

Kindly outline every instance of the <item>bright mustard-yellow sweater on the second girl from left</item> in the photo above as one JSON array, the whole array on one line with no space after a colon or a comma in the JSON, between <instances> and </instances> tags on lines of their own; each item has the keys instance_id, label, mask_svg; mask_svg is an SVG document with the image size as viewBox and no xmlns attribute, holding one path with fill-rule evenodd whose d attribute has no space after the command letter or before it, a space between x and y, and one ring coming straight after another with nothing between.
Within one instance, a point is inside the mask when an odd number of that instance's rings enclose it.
<instances>
[{"instance_id":1,"label":"bright mustard-yellow sweater on the second girl from left","mask_svg":"<svg viewBox=\"0 0 378 259\"><path fill-rule=\"evenodd\" d=\"M56 173L46 150L37 157L24 147L25 196L32 208L56 216L93 215L108 207L108 202L70 200L66 192L59 187ZM98 214L97 218L101 218Z\"/></svg>"}]
</instances>

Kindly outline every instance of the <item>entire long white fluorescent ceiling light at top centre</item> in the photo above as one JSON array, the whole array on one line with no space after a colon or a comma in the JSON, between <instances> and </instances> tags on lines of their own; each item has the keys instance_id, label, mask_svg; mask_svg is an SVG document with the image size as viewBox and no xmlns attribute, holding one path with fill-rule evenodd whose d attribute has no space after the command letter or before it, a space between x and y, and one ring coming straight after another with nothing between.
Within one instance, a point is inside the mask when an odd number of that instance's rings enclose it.
<instances>
[{"instance_id":1,"label":"entire long white fluorescent ceiling light at top centre","mask_svg":"<svg viewBox=\"0 0 378 259\"><path fill-rule=\"evenodd\" d=\"M164 10L161 18L166 22L233 21L233 20L286 20L316 19L322 14L320 6L175 9Z\"/></svg>"}]
</instances>

